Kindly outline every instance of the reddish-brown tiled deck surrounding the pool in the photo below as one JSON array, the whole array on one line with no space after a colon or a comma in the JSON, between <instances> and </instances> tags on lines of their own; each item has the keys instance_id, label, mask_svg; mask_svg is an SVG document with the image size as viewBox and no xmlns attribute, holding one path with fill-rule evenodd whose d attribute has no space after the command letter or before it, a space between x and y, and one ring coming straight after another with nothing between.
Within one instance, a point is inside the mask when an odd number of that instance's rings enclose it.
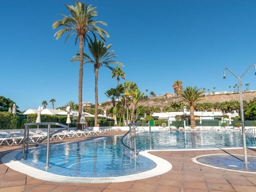
<instances>
[{"instance_id":1,"label":"reddish-brown tiled deck surrounding the pool","mask_svg":"<svg viewBox=\"0 0 256 192\"><path fill-rule=\"evenodd\" d=\"M124 131L107 132L106 135L124 134ZM88 139L88 138L86 138ZM79 139L68 139L58 141L76 141ZM21 148L21 146L1 146L0 159L4 154ZM150 152L155 156L169 161L173 168L163 175L150 177L148 179L134 180L129 182L106 183L106 184L62 184L46 182L34 179L28 175L15 172L3 163L0 164L0 192L1 191L93 191L93 192L224 192L224 191L256 191L256 174L244 172L231 172L228 170L211 168L202 164L196 164L191 158L205 154L241 154L243 149L230 150L186 150L186 151L157 151ZM256 156L255 149L247 150L248 156Z\"/></svg>"}]
</instances>

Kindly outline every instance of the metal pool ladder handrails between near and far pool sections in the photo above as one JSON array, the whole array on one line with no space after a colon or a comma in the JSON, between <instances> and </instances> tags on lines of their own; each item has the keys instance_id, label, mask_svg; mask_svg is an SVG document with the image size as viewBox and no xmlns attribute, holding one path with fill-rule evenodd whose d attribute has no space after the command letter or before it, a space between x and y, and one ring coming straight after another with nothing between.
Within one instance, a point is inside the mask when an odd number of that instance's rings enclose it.
<instances>
[{"instance_id":1,"label":"metal pool ladder handrails between near and far pool sections","mask_svg":"<svg viewBox=\"0 0 256 192\"><path fill-rule=\"evenodd\" d=\"M139 127L139 125L148 125L148 127L149 127L149 134L148 134L148 136L149 136L149 143L150 143L150 150L152 149L152 145L151 145L151 138L152 138L152 136L151 136L151 126L149 125L149 124L147 124L147 123L141 123L141 124L138 124L138 123L131 123L131 124L129 124L129 131L127 131L125 134L124 134L124 136L122 136L122 139L121 139L121 141L122 141L122 144L125 146L125 147L127 147L127 148L129 148L131 151L134 151L134 156L137 156L138 155L138 152L137 152L137 143L136 143L136 131L138 131L138 129L140 129L140 127ZM144 129L144 128L143 128ZM133 136L132 136L132 131L133 131ZM144 129L144 131L145 131L145 129ZM124 138L127 136L129 134L129 143L130 143L130 146L128 146L128 145L126 145L125 143L124 143ZM132 140L133 139L133 140ZM132 142L133 141L133 142Z\"/></svg>"}]
</instances>

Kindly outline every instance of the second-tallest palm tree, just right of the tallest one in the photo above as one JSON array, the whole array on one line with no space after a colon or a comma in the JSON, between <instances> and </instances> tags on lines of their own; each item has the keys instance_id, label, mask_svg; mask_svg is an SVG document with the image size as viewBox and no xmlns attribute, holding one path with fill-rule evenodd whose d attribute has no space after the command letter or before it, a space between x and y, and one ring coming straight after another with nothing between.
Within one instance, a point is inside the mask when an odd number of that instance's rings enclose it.
<instances>
[{"instance_id":1,"label":"second-tallest palm tree, just right of the tallest one","mask_svg":"<svg viewBox=\"0 0 256 192\"><path fill-rule=\"evenodd\" d=\"M119 65L124 67L124 65L118 61L114 61L113 58L116 58L116 54L113 50L109 51L112 47L111 44L105 45L104 42L97 40L94 41L89 38L88 42L89 50L93 56L93 59L90 58L88 54L83 53L84 63L91 63L94 67L95 72L95 126L97 125L97 115L98 115L98 78L99 78L99 68L108 67L111 70L114 70L113 67L109 66L110 64ZM80 58L80 53L74 56L71 61L77 61Z\"/></svg>"}]
</instances>

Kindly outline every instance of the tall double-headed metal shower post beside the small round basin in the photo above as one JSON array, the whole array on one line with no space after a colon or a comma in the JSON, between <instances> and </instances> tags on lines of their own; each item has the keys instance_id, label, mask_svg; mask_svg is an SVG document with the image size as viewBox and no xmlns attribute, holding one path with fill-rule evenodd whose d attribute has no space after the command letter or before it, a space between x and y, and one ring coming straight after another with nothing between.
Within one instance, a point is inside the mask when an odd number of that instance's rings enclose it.
<instances>
[{"instance_id":1,"label":"tall double-headed metal shower post beside the small round basin","mask_svg":"<svg viewBox=\"0 0 256 192\"><path fill-rule=\"evenodd\" d=\"M238 82L239 82L239 99L240 99L240 111L241 111L241 124L242 124L242 132L243 132L244 163L248 163L248 160L247 160L247 150L246 150L246 148L247 148L246 147L246 136L245 136L245 129L244 129L244 106L243 106L243 95L242 95L242 78L243 78L244 74L246 74L246 72L252 66L254 66L254 68L255 68L254 74L256 75L256 65L255 64L252 64L248 68L246 68L246 70L244 71L244 73L242 74L241 77L238 77L234 72L232 72L232 70L230 70L230 68L224 68L224 71L223 71L223 79L226 79L225 70L229 70L234 76L237 77Z\"/></svg>"}]
</instances>

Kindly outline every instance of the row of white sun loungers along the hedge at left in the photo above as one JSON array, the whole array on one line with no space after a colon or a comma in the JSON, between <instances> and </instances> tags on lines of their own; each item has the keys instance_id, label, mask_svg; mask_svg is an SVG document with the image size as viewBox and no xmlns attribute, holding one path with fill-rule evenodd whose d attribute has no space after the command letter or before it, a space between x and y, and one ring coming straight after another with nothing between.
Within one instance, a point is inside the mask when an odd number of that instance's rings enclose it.
<instances>
[{"instance_id":1,"label":"row of white sun loungers along the hedge at left","mask_svg":"<svg viewBox=\"0 0 256 192\"><path fill-rule=\"evenodd\" d=\"M61 131L56 134L52 134L50 140L63 140L71 138L81 138L88 136L97 136L100 134L105 134L106 131L89 131L89 130L70 130L70 131ZM45 131L29 131L29 141L38 142L41 139L47 137L47 132ZM0 132L0 146L1 145L20 145L23 143L24 134L22 132ZM45 140L46 141L46 140Z\"/></svg>"}]
</instances>

